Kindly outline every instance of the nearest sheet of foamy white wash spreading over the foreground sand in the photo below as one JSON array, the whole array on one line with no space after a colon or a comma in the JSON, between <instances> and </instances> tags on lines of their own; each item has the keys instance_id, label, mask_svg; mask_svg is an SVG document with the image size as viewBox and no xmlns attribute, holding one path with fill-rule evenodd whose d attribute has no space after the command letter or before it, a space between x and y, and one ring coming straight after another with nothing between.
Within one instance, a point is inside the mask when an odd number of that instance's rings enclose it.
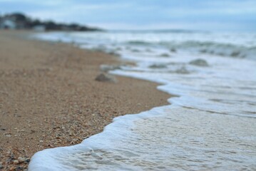
<instances>
[{"instance_id":1,"label":"nearest sheet of foamy white wash spreading over the foreground sand","mask_svg":"<svg viewBox=\"0 0 256 171\"><path fill-rule=\"evenodd\" d=\"M118 117L80 145L37 152L29 170L250 170L255 128L250 118L169 105Z\"/></svg>"}]
</instances>

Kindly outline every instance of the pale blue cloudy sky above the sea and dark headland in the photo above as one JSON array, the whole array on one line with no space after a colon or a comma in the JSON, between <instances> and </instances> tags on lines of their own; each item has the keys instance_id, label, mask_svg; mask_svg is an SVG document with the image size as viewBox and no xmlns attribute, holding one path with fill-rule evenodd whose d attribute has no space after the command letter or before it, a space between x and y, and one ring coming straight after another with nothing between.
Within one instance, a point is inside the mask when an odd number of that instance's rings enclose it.
<instances>
[{"instance_id":1,"label":"pale blue cloudy sky above the sea and dark headland","mask_svg":"<svg viewBox=\"0 0 256 171\"><path fill-rule=\"evenodd\" d=\"M108 29L256 31L256 0L0 0L0 14Z\"/></svg>"}]
</instances>

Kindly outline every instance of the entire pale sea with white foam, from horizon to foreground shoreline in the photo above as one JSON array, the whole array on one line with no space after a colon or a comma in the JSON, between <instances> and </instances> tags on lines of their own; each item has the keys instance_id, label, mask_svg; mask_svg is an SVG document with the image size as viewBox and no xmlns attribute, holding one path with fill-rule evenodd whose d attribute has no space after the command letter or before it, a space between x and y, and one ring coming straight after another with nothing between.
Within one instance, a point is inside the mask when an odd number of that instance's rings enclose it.
<instances>
[{"instance_id":1,"label":"entire pale sea with white foam, from horizon to foreground shoreline","mask_svg":"<svg viewBox=\"0 0 256 171\"><path fill-rule=\"evenodd\" d=\"M256 170L256 33L48 32L31 38L136 63L101 68L159 83L170 104L114 118L81 144L36 152L29 170Z\"/></svg>"}]
</instances>

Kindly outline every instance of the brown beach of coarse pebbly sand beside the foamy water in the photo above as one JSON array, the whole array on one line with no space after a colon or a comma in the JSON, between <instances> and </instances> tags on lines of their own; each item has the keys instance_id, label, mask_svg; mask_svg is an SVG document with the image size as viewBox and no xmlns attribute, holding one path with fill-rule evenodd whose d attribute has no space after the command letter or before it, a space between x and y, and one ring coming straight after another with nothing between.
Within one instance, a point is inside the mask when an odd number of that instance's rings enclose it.
<instances>
[{"instance_id":1,"label":"brown beach of coarse pebbly sand beside the foamy water","mask_svg":"<svg viewBox=\"0 0 256 171\"><path fill-rule=\"evenodd\" d=\"M28 40L29 33L0 31L2 170L26 170L39 150L75 145L118 115L168 104L170 95L155 83L120 76L118 83L95 81L101 64L124 63L118 57Z\"/></svg>"}]
</instances>

